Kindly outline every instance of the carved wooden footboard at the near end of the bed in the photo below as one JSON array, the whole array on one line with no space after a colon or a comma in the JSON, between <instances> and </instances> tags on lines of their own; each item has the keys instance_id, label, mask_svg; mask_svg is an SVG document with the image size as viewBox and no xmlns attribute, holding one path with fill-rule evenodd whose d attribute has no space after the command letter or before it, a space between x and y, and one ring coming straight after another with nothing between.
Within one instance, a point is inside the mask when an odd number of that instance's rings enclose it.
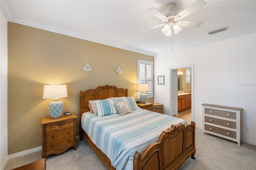
<instances>
[{"instance_id":1,"label":"carved wooden footboard at the near end of the bed","mask_svg":"<svg viewBox=\"0 0 256 170\"><path fill-rule=\"evenodd\" d=\"M173 170L179 169L188 159L195 159L195 123L172 125L150 144L143 153L134 154L134 170Z\"/></svg>"}]
</instances>

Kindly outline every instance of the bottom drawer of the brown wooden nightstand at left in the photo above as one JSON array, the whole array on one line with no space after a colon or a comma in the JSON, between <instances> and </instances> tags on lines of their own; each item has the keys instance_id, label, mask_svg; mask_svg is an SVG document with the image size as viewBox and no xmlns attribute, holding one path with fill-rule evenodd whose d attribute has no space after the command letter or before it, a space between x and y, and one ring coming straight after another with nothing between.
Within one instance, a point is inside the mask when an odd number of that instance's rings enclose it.
<instances>
[{"instance_id":1,"label":"bottom drawer of the brown wooden nightstand at left","mask_svg":"<svg viewBox=\"0 0 256 170\"><path fill-rule=\"evenodd\" d=\"M74 144L74 136L69 136L66 138L62 138L59 140L55 140L52 142L46 143L46 152L49 152L51 150L56 150L58 148L62 148L65 146L68 146L70 144Z\"/></svg>"}]
</instances>

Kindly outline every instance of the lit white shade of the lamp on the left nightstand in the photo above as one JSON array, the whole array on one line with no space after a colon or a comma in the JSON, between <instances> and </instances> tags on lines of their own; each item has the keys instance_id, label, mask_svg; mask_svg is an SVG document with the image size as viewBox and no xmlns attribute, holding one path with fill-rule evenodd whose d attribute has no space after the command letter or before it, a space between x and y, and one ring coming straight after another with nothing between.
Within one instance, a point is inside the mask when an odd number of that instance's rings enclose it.
<instances>
[{"instance_id":1,"label":"lit white shade of the lamp on the left nightstand","mask_svg":"<svg viewBox=\"0 0 256 170\"><path fill-rule=\"evenodd\" d=\"M43 99L68 97L67 85L44 85Z\"/></svg>"}]
</instances>

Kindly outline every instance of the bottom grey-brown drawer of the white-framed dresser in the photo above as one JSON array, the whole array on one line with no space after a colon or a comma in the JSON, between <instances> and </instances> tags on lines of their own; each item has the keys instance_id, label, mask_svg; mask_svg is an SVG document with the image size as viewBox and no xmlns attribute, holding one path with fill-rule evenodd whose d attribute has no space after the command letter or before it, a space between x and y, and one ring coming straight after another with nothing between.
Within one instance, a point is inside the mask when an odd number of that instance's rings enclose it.
<instances>
[{"instance_id":1,"label":"bottom grey-brown drawer of the white-framed dresser","mask_svg":"<svg viewBox=\"0 0 256 170\"><path fill-rule=\"evenodd\" d=\"M236 132L232 131L232 130L227 130L224 128L214 127L214 126L206 125L206 124L204 125L204 130L236 139Z\"/></svg>"}]
</instances>

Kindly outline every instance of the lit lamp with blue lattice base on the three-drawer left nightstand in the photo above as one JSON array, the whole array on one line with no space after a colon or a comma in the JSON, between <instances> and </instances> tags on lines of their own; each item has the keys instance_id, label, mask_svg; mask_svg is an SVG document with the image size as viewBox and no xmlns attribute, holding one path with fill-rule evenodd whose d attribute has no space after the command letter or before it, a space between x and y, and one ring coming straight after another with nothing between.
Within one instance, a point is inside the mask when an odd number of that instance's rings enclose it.
<instances>
[{"instance_id":1,"label":"lit lamp with blue lattice base on the three-drawer left nightstand","mask_svg":"<svg viewBox=\"0 0 256 170\"><path fill-rule=\"evenodd\" d=\"M43 99L52 99L48 108L52 118L61 117L63 102L60 98L68 97L67 85L44 85Z\"/></svg>"}]
</instances>

